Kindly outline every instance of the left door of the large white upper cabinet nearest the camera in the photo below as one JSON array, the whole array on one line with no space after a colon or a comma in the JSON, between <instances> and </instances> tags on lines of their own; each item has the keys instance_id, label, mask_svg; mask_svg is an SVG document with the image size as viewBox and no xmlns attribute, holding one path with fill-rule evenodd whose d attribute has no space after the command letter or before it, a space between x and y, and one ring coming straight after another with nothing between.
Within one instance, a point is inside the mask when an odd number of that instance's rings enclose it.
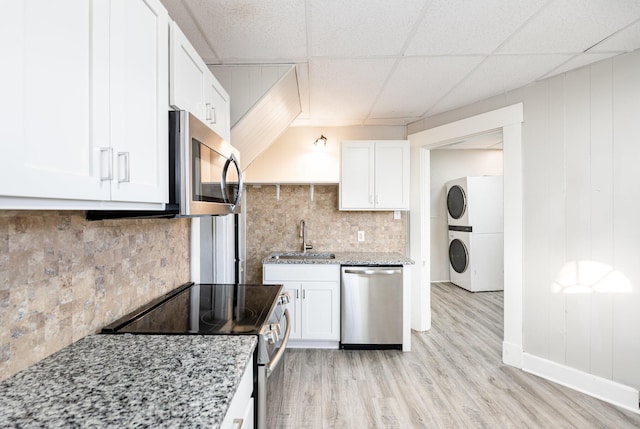
<instances>
[{"instance_id":1,"label":"left door of the large white upper cabinet nearest the camera","mask_svg":"<svg viewBox=\"0 0 640 429\"><path fill-rule=\"evenodd\" d=\"M94 32L107 23L86 0L3 2L0 195L109 199L91 132Z\"/></svg>"}]
</instances>

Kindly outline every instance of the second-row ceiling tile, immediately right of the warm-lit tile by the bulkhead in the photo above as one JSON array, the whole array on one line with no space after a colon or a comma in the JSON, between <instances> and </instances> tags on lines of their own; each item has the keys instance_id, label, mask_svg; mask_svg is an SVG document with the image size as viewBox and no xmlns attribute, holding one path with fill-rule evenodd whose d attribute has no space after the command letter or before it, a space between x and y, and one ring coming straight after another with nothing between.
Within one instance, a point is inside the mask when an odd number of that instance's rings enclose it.
<instances>
[{"instance_id":1,"label":"second-row ceiling tile, immediately right of the warm-lit tile by the bulkhead","mask_svg":"<svg viewBox=\"0 0 640 429\"><path fill-rule=\"evenodd\" d=\"M420 117L483 58L461 56L401 60L371 111L371 117Z\"/></svg>"}]
</instances>

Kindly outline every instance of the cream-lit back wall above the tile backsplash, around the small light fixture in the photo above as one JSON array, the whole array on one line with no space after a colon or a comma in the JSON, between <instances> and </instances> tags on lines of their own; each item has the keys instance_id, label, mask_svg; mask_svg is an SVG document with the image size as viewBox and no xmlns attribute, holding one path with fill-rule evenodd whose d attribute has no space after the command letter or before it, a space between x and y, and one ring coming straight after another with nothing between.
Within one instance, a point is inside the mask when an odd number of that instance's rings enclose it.
<instances>
[{"instance_id":1,"label":"cream-lit back wall above the tile backsplash, around the small light fixture","mask_svg":"<svg viewBox=\"0 0 640 429\"><path fill-rule=\"evenodd\" d=\"M323 134L326 148L313 142ZM402 140L404 126L290 127L245 171L248 183L338 183L340 142Z\"/></svg>"}]
</instances>

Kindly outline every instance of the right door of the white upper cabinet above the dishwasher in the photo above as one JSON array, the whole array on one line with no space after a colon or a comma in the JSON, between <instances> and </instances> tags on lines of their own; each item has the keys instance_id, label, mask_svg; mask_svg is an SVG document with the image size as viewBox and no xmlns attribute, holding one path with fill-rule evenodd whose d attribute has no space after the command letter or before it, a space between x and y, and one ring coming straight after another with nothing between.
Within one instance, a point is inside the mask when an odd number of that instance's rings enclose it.
<instances>
[{"instance_id":1,"label":"right door of the white upper cabinet above the dishwasher","mask_svg":"<svg viewBox=\"0 0 640 429\"><path fill-rule=\"evenodd\" d=\"M376 209L409 209L409 142L375 144Z\"/></svg>"}]
</instances>

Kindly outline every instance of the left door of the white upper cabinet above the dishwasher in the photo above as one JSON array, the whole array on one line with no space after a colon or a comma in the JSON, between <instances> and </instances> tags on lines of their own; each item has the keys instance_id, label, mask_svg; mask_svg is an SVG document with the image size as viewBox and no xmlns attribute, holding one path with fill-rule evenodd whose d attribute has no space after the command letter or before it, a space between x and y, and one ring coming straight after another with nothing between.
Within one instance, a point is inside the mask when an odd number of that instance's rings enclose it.
<instances>
[{"instance_id":1,"label":"left door of the white upper cabinet above the dishwasher","mask_svg":"<svg viewBox=\"0 0 640 429\"><path fill-rule=\"evenodd\" d=\"M340 209L374 207L374 144L343 142L340 176Z\"/></svg>"}]
</instances>

